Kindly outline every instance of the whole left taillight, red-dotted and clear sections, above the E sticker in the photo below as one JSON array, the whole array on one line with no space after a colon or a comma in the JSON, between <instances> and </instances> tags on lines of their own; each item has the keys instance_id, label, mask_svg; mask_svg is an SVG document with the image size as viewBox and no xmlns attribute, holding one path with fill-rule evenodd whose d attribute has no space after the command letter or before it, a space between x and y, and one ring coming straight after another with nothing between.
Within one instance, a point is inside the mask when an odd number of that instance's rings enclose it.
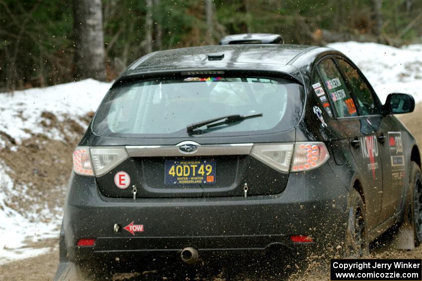
<instances>
[{"instance_id":1,"label":"whole left taillight, red-dotted and clear sections, above the E sticker","mask_svg":"<svg viewBox=\"0 0 422 281\"><path fill-rule=\"evenodd\" d=\"M124 147L76 147L73 170L80 175L101 176L129 157Z\"/></svg>"}]
</instances>

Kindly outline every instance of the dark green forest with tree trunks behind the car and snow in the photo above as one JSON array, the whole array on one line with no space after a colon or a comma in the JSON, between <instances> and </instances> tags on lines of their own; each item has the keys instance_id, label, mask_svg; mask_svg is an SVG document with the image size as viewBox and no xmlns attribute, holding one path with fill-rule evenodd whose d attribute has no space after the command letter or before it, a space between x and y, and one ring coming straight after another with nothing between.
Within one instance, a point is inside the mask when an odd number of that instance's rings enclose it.
<instances>
[{"instance_id":1,"label":"dark green forest with tree trunks behind the car and snow","mask_svg":"<svg viewBox=\"0 0 422 281\"><path fill-rule=\"evenodd\" d=\"M156 50L277 33L287 44L422 39L422 0L0 0L0 92L111 81Z\"/></svg>"}]
</instances>

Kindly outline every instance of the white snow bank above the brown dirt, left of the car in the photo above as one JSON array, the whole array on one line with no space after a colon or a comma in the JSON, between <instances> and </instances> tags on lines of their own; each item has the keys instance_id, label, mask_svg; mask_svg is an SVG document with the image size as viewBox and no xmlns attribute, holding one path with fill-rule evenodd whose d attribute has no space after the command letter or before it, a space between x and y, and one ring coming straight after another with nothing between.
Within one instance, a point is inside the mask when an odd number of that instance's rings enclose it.
<instances>
[{"instance_id":1,"label":"white snow bank above the brown dirt, left of the car","mask_svg":"<svg viewBox=\"0 0 422 281\"><path fill-rule=\"evenodd\" d=\"M47 88L34 88L14 93L0 94L0 131L5 132L20 144L32 133L44 133L51 139L62 140L58 131L45 131L40 126L41 113L54 113L59 121L63 114L82 116L96 111L111 83L93 79L66 83ZM4 146L3 143L0 145Z\"/></svg>"}]
</instances>

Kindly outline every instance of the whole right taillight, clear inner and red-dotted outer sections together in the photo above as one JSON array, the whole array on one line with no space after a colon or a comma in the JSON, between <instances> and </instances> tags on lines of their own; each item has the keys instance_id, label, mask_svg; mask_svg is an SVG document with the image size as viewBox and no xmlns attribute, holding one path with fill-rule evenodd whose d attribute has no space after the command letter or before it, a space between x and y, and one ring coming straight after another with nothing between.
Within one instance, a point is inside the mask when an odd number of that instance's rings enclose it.
<instances>
[{"instance_id":1,"label":"whole right taillight, clear inner and red-dotted outer sections together","mask_svg":"<svg viewBox=\"0 0 422 281\"><path fill-rule=\"evenodd\" d=\"M268 166L283 172L315 169L330 158L327 148L322 142L256 144L251 155ZM291 164L291 162L293 163Z\"/></svg>"}]
</instances>

